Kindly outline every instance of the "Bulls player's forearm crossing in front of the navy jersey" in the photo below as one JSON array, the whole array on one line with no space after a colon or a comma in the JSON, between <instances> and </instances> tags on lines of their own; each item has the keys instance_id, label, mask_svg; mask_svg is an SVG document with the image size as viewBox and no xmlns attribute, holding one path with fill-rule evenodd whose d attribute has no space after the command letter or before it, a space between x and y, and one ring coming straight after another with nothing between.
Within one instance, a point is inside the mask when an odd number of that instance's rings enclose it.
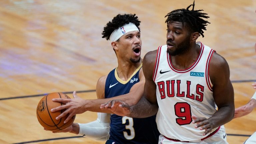
<instances>
[{"instance_id":1,"label":"Bulls player's forearm crossing in front of the navy jersey","mask_svg":"<svg viewBox=\"0 0 256 144\"><path fill-rule=\"evenodd\" d=\"M155 115L157 111L157 104L151 104L145 97L142 97L136 105L131 106L131 114L128 117L146 118Z\"/></svg>"}]
</instances>

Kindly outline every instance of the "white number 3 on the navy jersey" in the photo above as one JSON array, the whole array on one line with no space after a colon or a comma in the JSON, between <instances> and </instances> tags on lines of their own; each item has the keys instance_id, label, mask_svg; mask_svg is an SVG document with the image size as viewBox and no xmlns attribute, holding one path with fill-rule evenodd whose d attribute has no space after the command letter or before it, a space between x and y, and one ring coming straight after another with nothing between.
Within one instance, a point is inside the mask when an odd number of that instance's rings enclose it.
<instances>
[{"instance_id":1,"label":"white number 3 on the navy jersey","mask_svg":"<svg viewBox=\"0 0 256 144\"><path fill-rule=\"evenodd\" d=\"M124 137L128 140L131 140L135 137L135 131L134 131L134 128L133 128L133 119L130 118L130 117L127 117L127 116L124 116L122 118L122 123L125 124L126 123L126 120L128 120L128 125L125 126L126 129L130 130L130 133L131 135L128 135L127 132L123 132L124 133Z\"/></svg>"}]
</instances>

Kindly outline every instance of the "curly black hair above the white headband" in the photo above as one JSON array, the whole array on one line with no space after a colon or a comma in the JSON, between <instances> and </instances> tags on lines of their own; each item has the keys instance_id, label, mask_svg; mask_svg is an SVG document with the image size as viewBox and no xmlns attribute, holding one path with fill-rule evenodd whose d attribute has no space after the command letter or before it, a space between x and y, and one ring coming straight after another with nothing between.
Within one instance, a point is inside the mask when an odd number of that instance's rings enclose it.
<instances>
[{"instance_id":1,"label":"curly black hair above the white headband","mask_svg":"<svg viewBox=\"0 0 256 144\"><path fill-rule=\"evenodd\" d=\"M136 14L118 14L112 19L112 22L109 21L104 27L104 30L101 33L103 35L102 38L106 38L107 40L109 40L110 35L115 29L118 29L124 24L129 24L130 22L134 23L140 31L140 21L138 20Z\"/></svg>"}]
</instances>

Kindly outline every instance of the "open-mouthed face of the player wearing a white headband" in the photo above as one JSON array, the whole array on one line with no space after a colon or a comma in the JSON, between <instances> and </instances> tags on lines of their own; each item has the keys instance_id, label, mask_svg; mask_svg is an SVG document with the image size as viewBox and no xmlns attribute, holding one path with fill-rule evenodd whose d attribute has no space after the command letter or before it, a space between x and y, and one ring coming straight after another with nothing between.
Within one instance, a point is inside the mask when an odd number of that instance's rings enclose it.
<instances>
[{"instance_id":1,"label":"open-mouthed face of the player wearing a white headband","mask_svg":"<svg viewBox=\"0 0 256 144\"><path fill-rule=\"evenodd\" d=\"M131 31L119 38L119 54L133 63L140 61L141 39L139 31Z\"/></svg>"}]
</instances>

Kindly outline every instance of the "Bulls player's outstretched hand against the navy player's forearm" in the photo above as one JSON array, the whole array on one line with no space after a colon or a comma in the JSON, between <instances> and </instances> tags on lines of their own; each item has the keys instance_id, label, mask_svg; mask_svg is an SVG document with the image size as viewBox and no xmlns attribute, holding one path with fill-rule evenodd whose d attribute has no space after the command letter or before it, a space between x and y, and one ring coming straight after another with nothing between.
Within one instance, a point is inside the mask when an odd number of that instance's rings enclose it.
<instances>
[{"instance_id":1,"label":"Bulls player's outstretched hand against the navy player's forearm","mask_svg":"<svg viewBox=\"0 0 256 144\"><path fill-rule=\"evenodd\" d=\"M100 109L108 109L119 116L127 116L131 113L131 107L121 100L108 101L100 105Z\"/></svg>"}]
</instances>

